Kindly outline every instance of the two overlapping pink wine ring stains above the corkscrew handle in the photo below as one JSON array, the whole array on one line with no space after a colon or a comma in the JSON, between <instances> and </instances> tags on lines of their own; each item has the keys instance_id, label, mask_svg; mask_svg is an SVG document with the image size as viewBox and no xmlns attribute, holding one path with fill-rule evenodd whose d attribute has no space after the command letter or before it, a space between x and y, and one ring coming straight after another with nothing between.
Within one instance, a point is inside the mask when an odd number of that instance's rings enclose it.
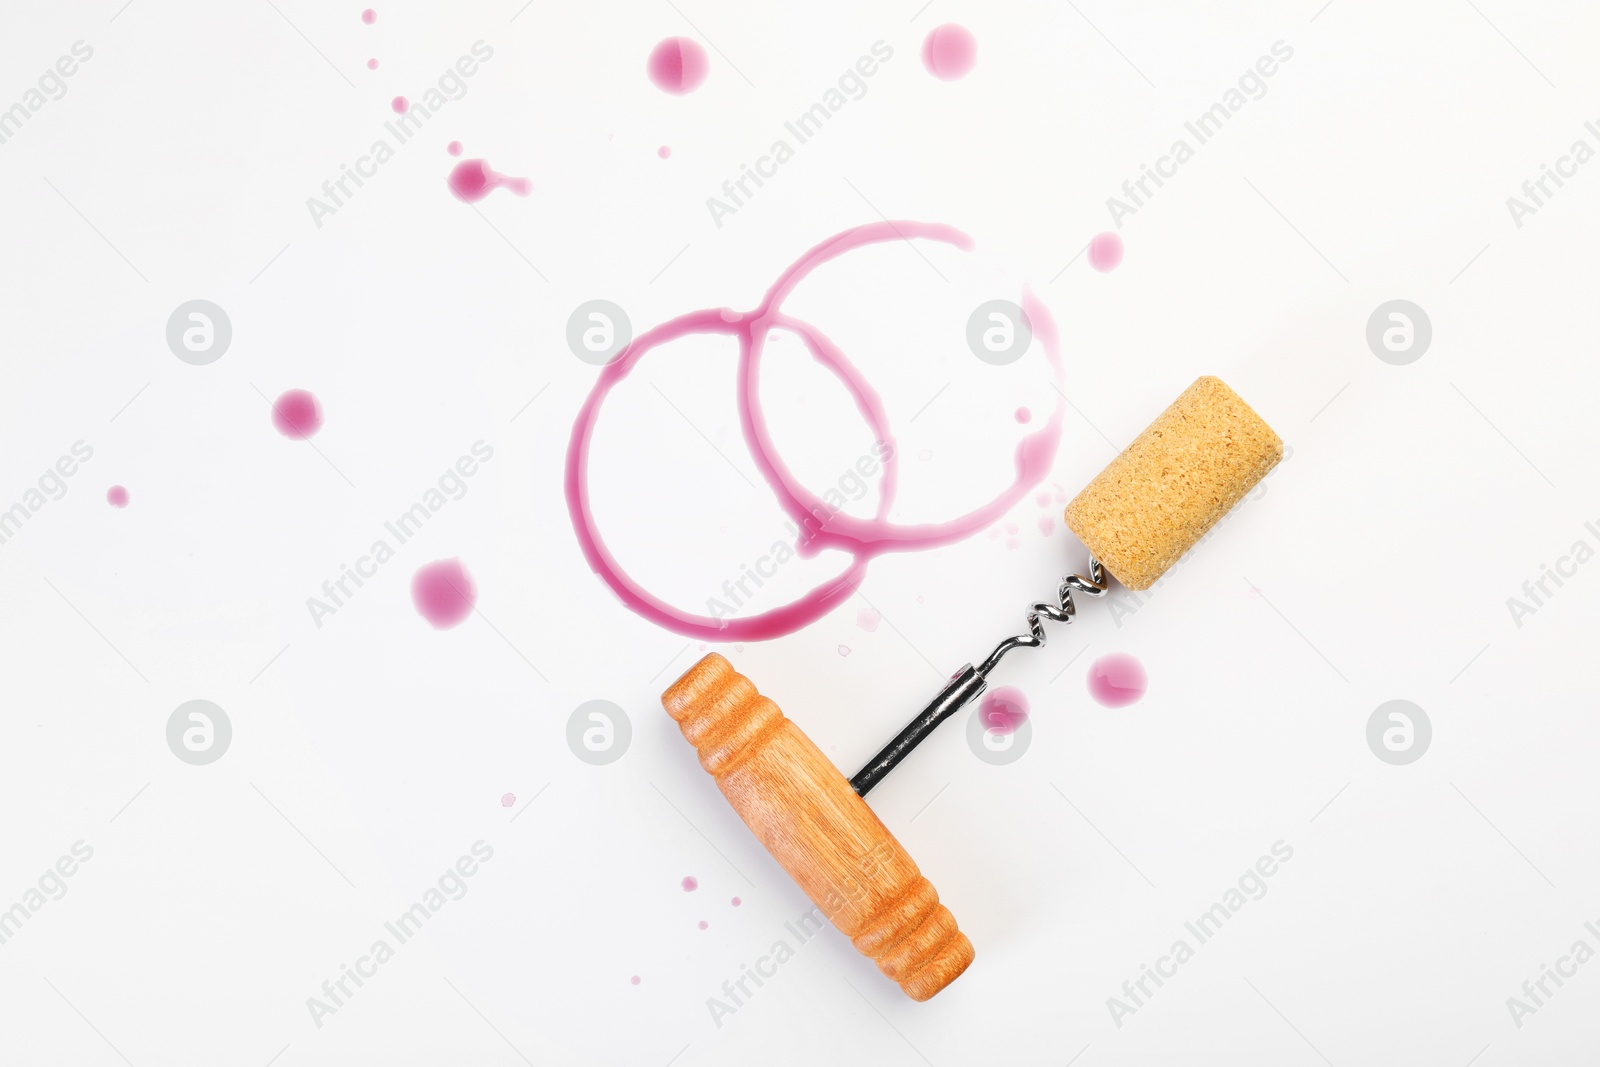
<instances>
[{"instance_id":1,"label":"two overlapping pink wine ring stains above the corkscrew handle","mask_svg":"<svg viewBox=\"0 0 1600 1067\"><path fill-rule=\"evenodd\" d=\"M578 413L573 435L566 448L566 509L573 518L579 547L589 566L621 597L622 603L640 616L685 637L714 638L718 641L768 640L794 633L816 622L824 614L854 595L867 571L867 563L885 552L909 552L934 549L963 541L990 526L1018 501L1024 499L1045 475L1061 443L1061 427L1066 418L1066 398L1056 402L1048 422L1018 442L1014 453L1016 480L987 504L944 523L906 525L888 522L890 507L899 475L899 450L893 448L888 413L878 394L861 376L861 371L843 352L810 323L792 318L781 304L794 288L821 264L866 245L923 238L944 242L970 250L970 237L949 226L936 222L869 222L837 234L810 250L784 270L766 291L755 310L739 314L730 309L707 309L680 315L637 338L616 358L605 365L595 379L589 400ZM1034 336L1045 349L1056 381L1064 381L1061 346L1056 322L1045 306L1030 293L1022 293L1022 310L1034 325ZM878 480L878 507L872 518L846 515L802 486L778 456L760 408L760 363L766 338L773 330L797 334L810 349L813 358L830 370L854 397L856 410L866 419L874 437L886 445L883 477ZM838 549L851 557L850 566L798 600L762 614L741 619L714 619L683 611L653 595L635 582L606 549L589 502L589 445L594 437L600 408L610 392L658 346L690 334L731 334L739 344L738 405L739 426L750 448L752 459L762 477L771 486L779 507L789 514L803 531L795 544L802 557L814 557L822 549ZM821 523L819 515L827 515ZM1013 530L1014 533L1014 530ZM840 656L850 649L838 646Z\"/></svg>"}]
</instances>

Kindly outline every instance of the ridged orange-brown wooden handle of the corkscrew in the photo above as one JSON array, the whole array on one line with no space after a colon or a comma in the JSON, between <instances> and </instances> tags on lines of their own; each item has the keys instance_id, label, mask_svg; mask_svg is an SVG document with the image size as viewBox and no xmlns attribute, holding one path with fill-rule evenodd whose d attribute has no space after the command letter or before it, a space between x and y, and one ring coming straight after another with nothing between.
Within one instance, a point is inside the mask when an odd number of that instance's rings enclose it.
<instances>
[{"instance_id":1,"label":"ridged orange-brown wooden handle of the corkscrew","mask_svg":"<svg viewBox=\"0 0 1600 1067\"><path fill-rule=\"evenodd\" d=\"M928 1000L973 942L901 843L811 739L710 653L661 696L701 766L766 851L856 949Z\"/></svg>"}]
</instances>

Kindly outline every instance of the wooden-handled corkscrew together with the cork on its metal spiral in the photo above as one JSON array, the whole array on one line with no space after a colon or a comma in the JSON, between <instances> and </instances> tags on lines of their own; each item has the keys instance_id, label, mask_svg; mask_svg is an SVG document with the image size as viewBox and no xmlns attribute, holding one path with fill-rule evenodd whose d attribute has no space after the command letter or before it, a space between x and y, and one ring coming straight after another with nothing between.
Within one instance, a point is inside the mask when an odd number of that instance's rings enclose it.
<instances>
[{"instance_id":1,"label":"wooden-handled corkscrew together with the cork on its metal spiral","mask_svg":"<svg viewBox=\"0 0 1600 1067\"><path fill-rule=\"evenodd\" d=\"M1090 550L1035 603L1027 633L966 664L854 777L845 776L749 678L710 653L662 694L701 766L789 877L856 949L914 1000L928 1000L973 961L973 945L906 849L862 800L939 723L966 707L1013 648L1045 645L1045 622L1070 624L1078 595L1110 577L1149 589L1283 458L1283 442L1218 378L1197 379L1067 504Z\"/></svg>"}]
</instances>

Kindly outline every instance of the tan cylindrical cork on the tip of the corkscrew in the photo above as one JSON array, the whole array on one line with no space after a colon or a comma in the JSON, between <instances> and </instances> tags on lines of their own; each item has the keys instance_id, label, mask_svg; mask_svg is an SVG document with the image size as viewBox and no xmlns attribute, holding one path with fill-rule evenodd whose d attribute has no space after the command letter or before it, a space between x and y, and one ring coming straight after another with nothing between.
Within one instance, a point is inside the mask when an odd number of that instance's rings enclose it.
<instances>
[{"instance_id":1,"label":"tan cylindrical cork on the tip of the corkscrew","mask_svg":"<svg viewBox=\"0 0 1600 1067\"><path fill-rule=\"evenodd\" d=\"M1149 589L1283 458L1221 378L1198 378L1067 504L1067 526L1128 589Z\"/></svg>"}]
</instances>

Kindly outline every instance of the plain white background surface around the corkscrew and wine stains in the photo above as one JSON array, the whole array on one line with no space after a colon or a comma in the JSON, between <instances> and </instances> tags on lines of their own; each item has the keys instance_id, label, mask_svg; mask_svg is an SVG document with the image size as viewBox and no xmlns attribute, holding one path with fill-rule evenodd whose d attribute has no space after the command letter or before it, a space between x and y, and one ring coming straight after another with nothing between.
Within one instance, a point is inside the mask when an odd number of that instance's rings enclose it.
<instances>
[{"instance_id":1,"label":"plain white background surface around the corkscrew and wine stains","mask_svg":"<svg viewBox=\"0 0 1600 1067\"><path fill-rule=\"evenodd\" d=\"M75 841L93 859L0 945L0 1062L1589 1062L1600 963L1522 1027L1506 1000L1574 941L1600 949L1600 565L1520 627L1506 600L1600 547L1600 163L1520 229L1506 198L1597 146L1600 18L1318 5L389 0L374 26L304 0L6 5L0 106L74 42L94 54L0 146L0 507L74 442L94 454L0 545L0 905ZM949 21L979 56L944 83L918 50ZM672 98L643 66L678 34L710 75ZM314 226L306 198L390 98L477 40L494 56L469 93ZM867 94L714 226L706 198L878 40ZM1118 270L1090 270L1106 198L1278 40L1267 94L1123 221ZM533 195L453 200L451 139ZM1048 493L1203 373L1293 456L1138 613L1093 605L1006 662L1034 705L1022 760L979 761L952 723L874 792L978 947L966 976L915 1005L824 931L718 1027L707 998L810 905L659 709L698 641L578 552L562 469L597 371L565 323L595 298L640 331L752 307L880 213L978 242L858 253L790 302L890 408L896 518L998 491L1010 413L1056 400L1037 349L995 370L965 347L970 310L1024 283L1074 405ZM234 326L210 366L165 341L195 298ZM1397 298L1434 326L1408 366L1365 341ZM784 456L821 490L870 434L792 339L768 374ZM270 426L262 395L291 387L326 411L315 450ZM469 493L314 625L306 598L478 440ZM605 534L686 608L781 531L725 344L651 357L594 456ZM1040 531L1058 510L1018 506L1016 547L880 558L874 632L858 600L722 651L851 771L1082 566L1059 522ZM410 576L446 557L480 614L434 630ZM758 606L837 568L789 565ZM1086 696L1112 651L1149 669L1131 709ZM195 697L234 725L210 766L165 741ZM1365 739L1395 697L1434 726L1410 766ZM590 699L632 720L610 766L566 747ZM470 891L318 1027L307 997L478 840ZM1280 840L1270 891L1118 1027L1107 998Z\"/></svg>"}]
</instances>

